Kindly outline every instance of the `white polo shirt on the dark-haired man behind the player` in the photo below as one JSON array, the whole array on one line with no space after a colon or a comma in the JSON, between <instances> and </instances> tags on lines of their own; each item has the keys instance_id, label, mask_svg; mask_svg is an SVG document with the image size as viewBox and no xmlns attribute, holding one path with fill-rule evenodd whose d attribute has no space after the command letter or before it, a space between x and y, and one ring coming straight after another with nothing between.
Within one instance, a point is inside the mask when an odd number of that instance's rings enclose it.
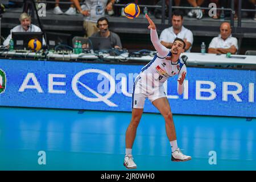
<instances>
[{"instance_id":1,"label":"white polo shirt on the dark-haired man behind the player","mask_svg":"<svg viewBox=\"0 0 256 182\"><path fill-rule=\"evenodd\" d=\"M188 30L188 28L185 27L181 27L181 31L179 32L179 34L175 34L174 32L174 27L169 27L164 29L161 34L160 34L160 41L164 41L164 42L168 42L168 43L173 43L175 38L180 38L182 40L187 39L187 42L191 43L191 47L193 44L193 34L190 30ZM186 52L190 52L191 47L186 51Z\"/></svg>"}]
</instances>

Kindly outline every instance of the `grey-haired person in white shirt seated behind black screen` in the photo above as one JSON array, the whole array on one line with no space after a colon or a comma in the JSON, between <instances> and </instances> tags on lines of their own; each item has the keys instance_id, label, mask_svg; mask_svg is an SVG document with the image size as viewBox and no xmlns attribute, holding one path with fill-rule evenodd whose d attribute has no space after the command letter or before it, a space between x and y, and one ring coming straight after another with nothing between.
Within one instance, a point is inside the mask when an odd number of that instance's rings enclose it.
<instances>
[{"instance_id":1,"label":"grey-haired person in white shirt seated behind black screen","mask_svg":"<svg viewBox=\"0 0 256 182\"><path fill-rule=\"evenodd\" d=\"M31 24L31 17L27 13L22 13L19 16L20 25L14 27L10 31L10 35L3 42L3 46L9 47L11 40L11 32L41 32L41 28ZM43 46L46 45L46 41L43 39Z\"/></svg>"}]
</instances>

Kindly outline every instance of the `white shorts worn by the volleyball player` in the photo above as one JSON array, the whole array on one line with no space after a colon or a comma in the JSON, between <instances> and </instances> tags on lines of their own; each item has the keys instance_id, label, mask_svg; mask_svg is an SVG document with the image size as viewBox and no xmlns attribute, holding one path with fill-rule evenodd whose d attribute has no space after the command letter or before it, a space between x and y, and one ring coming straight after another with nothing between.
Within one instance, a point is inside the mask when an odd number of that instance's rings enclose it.
<instances>
[{"instance_id":1,"label":"white shorts worn by the volleyball player","mask_svg":"<svg viewBox=\"0 0 256 182\"><path fill-rule=\"evenodd\" d=\"M133 88L132 109L143 109L146 98L153 102L158 98L167 97L163 85L154 90L147 89L147 92L141 92L141 90L141 84L138 83L138 80L135 81Z\"/></svg>"}]
</instances>

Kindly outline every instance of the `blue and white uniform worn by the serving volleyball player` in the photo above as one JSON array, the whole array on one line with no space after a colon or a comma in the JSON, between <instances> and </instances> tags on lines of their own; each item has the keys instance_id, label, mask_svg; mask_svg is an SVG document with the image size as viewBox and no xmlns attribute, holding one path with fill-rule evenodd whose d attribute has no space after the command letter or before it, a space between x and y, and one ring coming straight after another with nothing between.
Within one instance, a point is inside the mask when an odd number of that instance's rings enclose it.
<instances>
[{"instance_id":1,"label":"blue and white uniform worn by the serving volleyball player","mask_svg":"<svg viewBox=\"0 0 256 182\"><path fill-rule=\"evenodd\" d=\"M171 61L170 49L160 44L156 30L150 30L151 42L155 47L157 53L145 67L142 68L141 73L137 76L133 86L133 101L132 107L143 109L144 101L148 98L151 102L154 100L166 97L164 92L164 82L172 76L187 72L187 68L179 57L177 62ZM178 86L177 92L182 94L184 84Z\"/></svg>"}]
</instances>

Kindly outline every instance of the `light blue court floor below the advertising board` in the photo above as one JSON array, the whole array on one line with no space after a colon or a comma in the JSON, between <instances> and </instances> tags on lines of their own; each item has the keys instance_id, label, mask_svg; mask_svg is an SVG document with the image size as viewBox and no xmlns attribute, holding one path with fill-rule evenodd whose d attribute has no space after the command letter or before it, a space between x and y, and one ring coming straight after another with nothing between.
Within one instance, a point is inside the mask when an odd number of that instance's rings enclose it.
<instances>
[{"instance_id":1,"label":"light blue court floor below the advertising board","mask_svg":"<svg viewBox=\"0 0 256 182\"><path fill-rule=\"evenodd\" d=\"M131 113L0 107L0 116L1 170L126 170ZM133 147L137 170L256 170L255 118L174 121L178 145L192 160L171 162L162 116L145 113Z\"/></svg>"}]
</instances>

